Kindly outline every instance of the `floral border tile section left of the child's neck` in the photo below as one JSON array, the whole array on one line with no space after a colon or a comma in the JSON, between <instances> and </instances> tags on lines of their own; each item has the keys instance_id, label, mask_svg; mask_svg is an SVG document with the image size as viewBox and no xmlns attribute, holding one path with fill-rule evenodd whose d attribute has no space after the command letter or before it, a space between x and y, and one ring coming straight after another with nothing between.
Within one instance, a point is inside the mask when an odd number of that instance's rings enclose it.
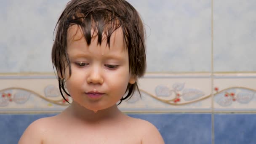
<instances>
[{"instance_id":1,"label":"floral border tile section left of the child's neck","mask_svg":"<svg viewBox=\"0 0 256 144\"><path fill-rule=\"evenodd\" d=\"M51 76L0 77L0 112L60 112L68 106Z\"/></svg>"}]
</instances>

